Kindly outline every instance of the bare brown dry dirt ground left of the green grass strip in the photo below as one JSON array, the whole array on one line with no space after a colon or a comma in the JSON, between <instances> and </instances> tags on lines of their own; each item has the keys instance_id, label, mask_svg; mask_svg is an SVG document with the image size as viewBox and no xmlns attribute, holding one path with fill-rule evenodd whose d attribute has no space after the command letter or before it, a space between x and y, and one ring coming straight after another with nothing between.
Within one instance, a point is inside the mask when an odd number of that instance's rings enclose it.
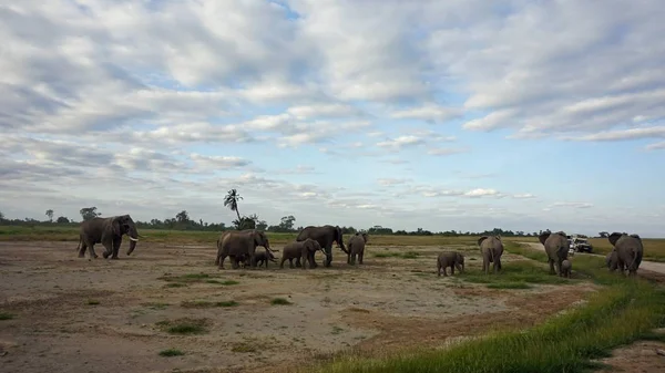
<instances>
[{"instance_id":1,"label":"bare brown dry dirt ground left of the green grass strip","mask_svg":"<svg viewBox=\"0 0 665 373\"><path fill-rule=\"evenodd\" d=\"M334 268L314 270L289 269L288 261L283 270L273 262L232 270L228 261L217 270L214 246L139 242L131 257L123 246L120 260L102 259L99 245L99 259L80 259L75 247L0 242L0 312L13 315L0 321L2 371L293 372L336 354L529 327L593 291L580 282L492 290L438 278L437 247L368 246L357 268L334 248ZM466 253L468 271L480 270L477 248L448 248ZM409 250L418 258L374 257ZM507 267L515 257L502 259ZM273 304L275 298L290 304ZM204 331L166 331L183 320ZM158 354L167 349L184 354Z\"/></svg>"}]
</instances>

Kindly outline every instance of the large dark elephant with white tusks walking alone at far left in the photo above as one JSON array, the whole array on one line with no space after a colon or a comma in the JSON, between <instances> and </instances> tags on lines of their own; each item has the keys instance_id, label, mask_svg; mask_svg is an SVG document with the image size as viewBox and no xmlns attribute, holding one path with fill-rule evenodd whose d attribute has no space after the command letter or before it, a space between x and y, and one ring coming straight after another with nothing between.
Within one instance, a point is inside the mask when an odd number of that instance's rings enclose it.
<instances>
[{"instance_id":1,"label":"large dark elephant with white tusks walking alone at far left","mask_svg":"<svg viewBox=\"0 0 665 373\"><path fill-rule=\"evenodd\" d=\"M94 245L102 244L105 248L104 259L111 256L111 259L117 259L117 251L122 244L122 236L130 238L130 248L127 256L132 255L139 242L139 231L136 225L130 215L112 216L108 218L94 217L81 222L79 228L79 258L85 257L85 249L90 250L90 258L98 258L94 252Z\"/></svg>"}]
</instances>

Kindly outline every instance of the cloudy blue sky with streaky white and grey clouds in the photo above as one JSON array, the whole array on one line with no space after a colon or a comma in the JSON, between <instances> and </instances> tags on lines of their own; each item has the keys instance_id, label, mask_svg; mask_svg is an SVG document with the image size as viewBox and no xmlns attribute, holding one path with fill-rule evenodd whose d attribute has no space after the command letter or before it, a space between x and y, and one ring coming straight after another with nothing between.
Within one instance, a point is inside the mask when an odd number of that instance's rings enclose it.
<instances>
[{"instance_id":1,"label":"cloudy blue sky with streaky white and grey clouds","mask_svg":"<svg viewBox=\"0 0 665 373\"><path fill-rule=\"evenodd\" d=\"M665 7L0 6L0 210L665 236Z\"/></svg>"}]
</instances>

